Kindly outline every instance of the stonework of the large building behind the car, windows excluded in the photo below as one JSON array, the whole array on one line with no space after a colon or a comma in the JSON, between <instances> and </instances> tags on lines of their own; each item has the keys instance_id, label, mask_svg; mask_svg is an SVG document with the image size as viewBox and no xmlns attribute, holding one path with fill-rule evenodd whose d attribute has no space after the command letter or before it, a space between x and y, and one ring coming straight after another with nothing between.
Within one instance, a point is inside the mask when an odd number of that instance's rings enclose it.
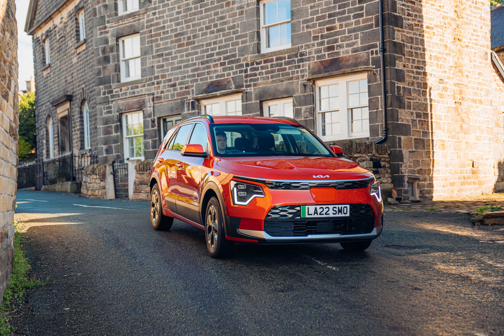
<instances>
[{"instance_id":1,"label":"stonework of the large building behind the car, windows excluded","mask_svg":"<svg viewBox=\"0 0 504 336\"><path fill-rule=\"evenodd\" d=\"M39 148L45 144L47 116L55 120L56 108L50 102L62 94L73 95L76 149L83 149L80 106L88 101L91 150L99 153L101 163L128 157L122 113L143 111L145 159L152 159L161 139L161 117L200 114L201 99L229 93L242 92L246 115L263 115L262 102L292 96L294 117L317 132L314 81L363 72L368 79L370 137L354 140L355 146L382 136L385 81L385 144L390 153L383 159L390 161L382 168L373 163L373 169L390 169L378 172L390 174L383 178L392 180L397 196L408 198L411 180L420 199L456 198L503 187L497 183L504 173L504 140L502 127L496 126L502 117L497 105L502 79L488 53L489 0L384 0L383 71L378 4L292 0L291 48L262 54L256 0L140 1L138 11L121 16L114 0L69 0L31 32L40 86ZM55 5L41 6L36 17L44 17ZM87 40L84 47L75 48L72 22L82 6ZM63 26L67 33L56 40L55 32ZM120 83L118 39L136 33L142 78ZM43 70L41 46L46 36L55 47L51 65ZM364 165L377 162L371 160L377 158L373 152L348 155L364 155Z\"/></svg>"}]
</instances>

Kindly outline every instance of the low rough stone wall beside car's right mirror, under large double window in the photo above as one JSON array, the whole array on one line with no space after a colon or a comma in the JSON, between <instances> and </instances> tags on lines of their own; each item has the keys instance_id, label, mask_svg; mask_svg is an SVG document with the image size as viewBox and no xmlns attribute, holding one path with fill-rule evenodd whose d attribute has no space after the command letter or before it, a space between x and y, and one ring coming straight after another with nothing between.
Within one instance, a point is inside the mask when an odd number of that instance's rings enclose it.
<instances>
[{"instance_id":1,"label":"low rough stone wall beside car's right mirror, under large double window","mask_svg":"<svg viewBox=\"0 0 504 336\"><path fill-rule=\"evenodd\" d=\"M338 140L327 143L340 146L343 157L350 159L362 167L369 169L380 182L382 189L392 189L390 173L390 148L387 145L376 145L373 141Z\"/></svg>"}]
</instances>

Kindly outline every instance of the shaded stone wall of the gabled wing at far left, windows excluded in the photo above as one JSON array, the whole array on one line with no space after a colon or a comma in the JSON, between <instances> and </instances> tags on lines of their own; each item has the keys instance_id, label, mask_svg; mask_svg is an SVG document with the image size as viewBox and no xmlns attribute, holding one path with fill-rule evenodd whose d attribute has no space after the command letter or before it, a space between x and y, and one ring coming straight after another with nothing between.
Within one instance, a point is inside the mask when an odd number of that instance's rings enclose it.
<instances>
[{"instance_id":1,"label":"shaded stone wall of the gabled wing at far left, windows excluded","mask_svg":"<svg viewBox=\"0 0 504 336\"><path fill-rule=\"evenodd\" d=\"M49 14L58 1L39 1L35 22ZM78 44L78 22L76 11L84 9L86 42ZM94 90L93 21L90 2L72 0L63 4L60 10L47 18L44 23L30 32L33 35L33 55L35 62L35 110L37 122L37 156L49 157L47 119L53 126L54 155L60 154L60 129L57 106L51 102L64 95L71 95L69 123L72 132L74 153L90 152L84 147L83 103L89 107L91 148L98 148L96 128L96 108ZM44 40L49 39L50 64L45 64ZM67 101L61 102L66 103Z\"/></svg>"}]
</instances>

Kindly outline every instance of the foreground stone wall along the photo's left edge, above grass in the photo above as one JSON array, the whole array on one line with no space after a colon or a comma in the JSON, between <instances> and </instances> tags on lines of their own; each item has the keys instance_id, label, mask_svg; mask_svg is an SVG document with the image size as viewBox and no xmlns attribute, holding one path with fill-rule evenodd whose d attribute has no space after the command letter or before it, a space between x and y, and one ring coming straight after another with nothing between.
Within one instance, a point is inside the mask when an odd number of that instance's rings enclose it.
<instances>
[{"instance_id":1,"label":"foreground stone wall along the photo's left edge, above grass","mask_svg":"<svg viewBox=\"0 0 504 336\"><path fill-rule=\"evenodd\" d=\"M14 256L18 178L18 30L14 0L0 0L0 302Z\"/></svg>"}]
</instances>

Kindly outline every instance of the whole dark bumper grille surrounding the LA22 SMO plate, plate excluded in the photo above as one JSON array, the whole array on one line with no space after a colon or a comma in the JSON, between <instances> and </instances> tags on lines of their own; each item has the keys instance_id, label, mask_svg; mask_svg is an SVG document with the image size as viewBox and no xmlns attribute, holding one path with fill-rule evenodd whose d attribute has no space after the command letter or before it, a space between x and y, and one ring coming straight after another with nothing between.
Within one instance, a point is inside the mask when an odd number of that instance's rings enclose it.
<instances>
[{"instance_id":1,"label":"whole dark bumper grille surrounding the LA22 SMO plate, plate excluded","mask_svg":"<svg viewBox=\"0 0 504 336\"><path fill-rule=\"evenodd\" d=\"M264 221L264 231L273 237L303 237L365 234L374 229L374 212L368 204L351 204L349 217L301 219L300 216L301 206L273 207Z\"/></svg>"}]
</instances>

